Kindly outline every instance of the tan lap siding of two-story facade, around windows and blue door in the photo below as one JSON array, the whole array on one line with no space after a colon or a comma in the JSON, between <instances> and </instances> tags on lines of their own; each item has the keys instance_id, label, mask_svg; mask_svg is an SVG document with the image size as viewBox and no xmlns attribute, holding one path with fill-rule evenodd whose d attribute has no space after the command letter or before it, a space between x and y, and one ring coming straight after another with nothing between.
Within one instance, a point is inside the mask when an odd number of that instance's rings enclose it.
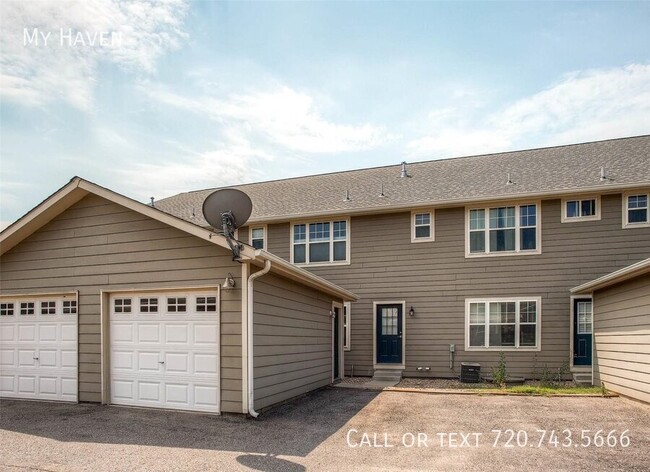
<instances>
[{"instance_id":1,"label":"tan lap siding of two-story facade, around windows and blue door","mask_svg":"<svg viewBox=\"0 0 650 472\"><path fill-rule=\"evenodd\" d=\"M352 305L352 348L346 373L371 375L372 303L405 300L415 317L406 317L405 375L456 376L460 362L480 362L488 371L497 352L466 352L465 299L541 297L542 350L506 352L508 370L532 376L536 365L559 367L568 361L572 287L650 255L650 228L621 228L621 196L602 197L602 220L560 223L560 200L542 203L542 254L465 258L464 208L435 212L435 241L411 243L410 213L353 217L351 263L311 267L361 298ZM289 255L289 227L269 225L269 250ZM449 344L456 345L449 368Z\"/></svg>"}]
</instances>

